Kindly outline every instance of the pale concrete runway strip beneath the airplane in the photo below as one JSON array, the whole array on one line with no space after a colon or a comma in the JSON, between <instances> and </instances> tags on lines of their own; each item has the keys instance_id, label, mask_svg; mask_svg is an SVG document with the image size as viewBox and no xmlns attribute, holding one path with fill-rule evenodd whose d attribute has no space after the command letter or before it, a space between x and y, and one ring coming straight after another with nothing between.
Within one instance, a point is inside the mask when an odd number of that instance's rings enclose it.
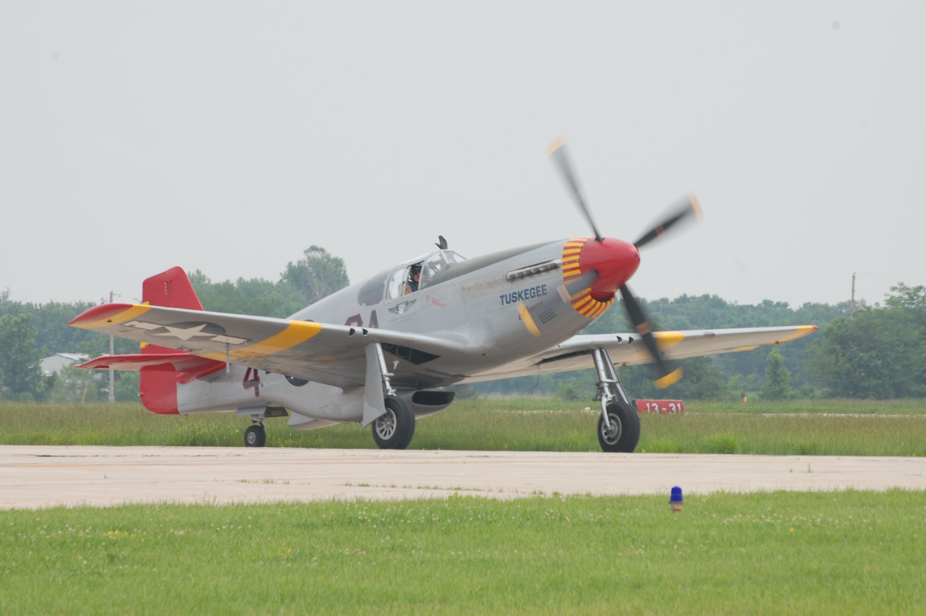
<instances>
[{"instance_id":1,"label":"pale concrete runway strip beneath the airplane","mask_svg":"<svg viewBox=\"0 0 926 616\"><path fill-rule=\"evenodd\" d=\"M926 459L267 447L0 446L0 509L460 494L926 489Z\"/></svg>"}]
</instances>

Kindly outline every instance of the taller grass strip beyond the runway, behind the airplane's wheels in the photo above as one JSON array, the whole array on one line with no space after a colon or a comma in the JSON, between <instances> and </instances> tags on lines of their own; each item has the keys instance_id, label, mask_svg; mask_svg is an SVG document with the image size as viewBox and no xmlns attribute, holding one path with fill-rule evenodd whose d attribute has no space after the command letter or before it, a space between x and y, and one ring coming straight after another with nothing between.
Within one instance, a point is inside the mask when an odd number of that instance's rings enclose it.
<instances>
[{"instance_id":1,"label":"taller grass strip beyond the runway, behind the airplane's wheels","mask_svg":"<svg viewBox=\"0 0 926 616\"><path fill-rule=\"evenodd\" d=\"M413 448L598 451L597 414L542 398L460 400L419 422ZM867 410L866 410L867 409ZM693 403L682 416L644 416L637 450L667 453L926 456L919 401L779 405ZM137 404L0 404L0 444L242 446L249 421L228 413L159 416ZM369 429L340 425L296 432L268 423L269 446L373 447Z\"/></svg>"}]
</instances>

